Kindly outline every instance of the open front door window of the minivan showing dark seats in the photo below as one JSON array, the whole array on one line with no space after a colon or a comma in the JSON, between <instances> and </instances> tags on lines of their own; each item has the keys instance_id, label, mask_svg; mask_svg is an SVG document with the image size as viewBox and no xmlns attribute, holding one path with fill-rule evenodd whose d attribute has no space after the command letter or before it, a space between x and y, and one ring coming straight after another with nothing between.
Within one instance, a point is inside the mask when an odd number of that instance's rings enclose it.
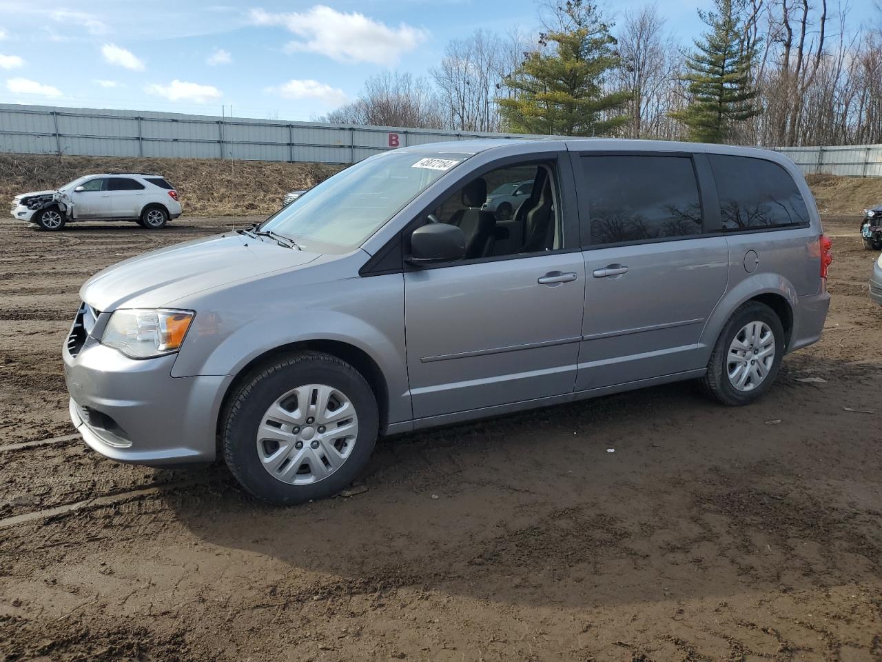
<instances>
[{"instance_id":1,"label":"open front door window of the minivan showing dark seats","mask_svg":"<svg viewBox=\"0 0 882 662\"><path fill-rule=\"evenodd\" d=\"M468 182L431 214L459 227L464 260L481 260L561 247L557 184L546 164L492 170Z\"/></svg>"}]
</instances>

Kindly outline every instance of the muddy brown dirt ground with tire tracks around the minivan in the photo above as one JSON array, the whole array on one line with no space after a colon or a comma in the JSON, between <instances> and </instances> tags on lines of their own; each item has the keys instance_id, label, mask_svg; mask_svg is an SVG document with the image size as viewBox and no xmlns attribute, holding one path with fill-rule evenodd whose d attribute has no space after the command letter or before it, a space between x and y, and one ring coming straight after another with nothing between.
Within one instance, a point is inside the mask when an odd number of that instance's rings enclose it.
<instances>
[{"instance_id":1,"label":"muddy brown dirt ground with tire tracks around the minivan","mask_svg":"<svg viewBox=\"0 0 882 662\"><path fill-rule=\"evenodd\" d=\"M408 434L366 491L290 509L64 440L80 283L231 223L0 221L0 659L882 659L882 307L855 218L826 221L823 340L762 402L676 384Z\"/></svg>"}]
</instances>

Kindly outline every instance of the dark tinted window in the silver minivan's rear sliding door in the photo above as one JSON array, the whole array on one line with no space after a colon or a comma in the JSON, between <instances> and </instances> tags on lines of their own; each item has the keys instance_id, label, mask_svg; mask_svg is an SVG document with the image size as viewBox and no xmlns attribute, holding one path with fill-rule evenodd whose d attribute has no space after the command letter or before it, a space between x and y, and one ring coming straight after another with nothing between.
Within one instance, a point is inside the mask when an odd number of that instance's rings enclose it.
<instances>
[{"instance_id":1,"label":"dark tinted window in the silver minivan's rear sliding door","mask_svg":"<svg viewBox=\"0 0 882 662\"><path fill-rule=\"evenodd\" d=\"M582 157L591 244L701 234L699 184L689 156Z\"/></svg>"}]
</instances>

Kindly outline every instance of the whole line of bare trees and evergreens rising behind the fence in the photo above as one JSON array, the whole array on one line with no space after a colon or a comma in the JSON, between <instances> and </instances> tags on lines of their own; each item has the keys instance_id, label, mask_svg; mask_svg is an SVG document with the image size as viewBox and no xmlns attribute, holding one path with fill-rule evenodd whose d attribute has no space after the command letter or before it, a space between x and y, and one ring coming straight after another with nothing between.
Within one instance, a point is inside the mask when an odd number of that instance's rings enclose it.
<instances>
[{"instance_id":1,"label":"whole line of bare trees and evergreens rising behind the fence","mask_svg":"<svg viewBox=\"0 0 882 662\"><path fill-rule=\"evenodd\" d=\"M691 44L657 4L618 24L591 0L549 0L534 33L479 29L428 76L384 71L318 119L463 132L695 140L766 147L882 142L882 4L714 0Z\"/></svg>"}]
</instances>

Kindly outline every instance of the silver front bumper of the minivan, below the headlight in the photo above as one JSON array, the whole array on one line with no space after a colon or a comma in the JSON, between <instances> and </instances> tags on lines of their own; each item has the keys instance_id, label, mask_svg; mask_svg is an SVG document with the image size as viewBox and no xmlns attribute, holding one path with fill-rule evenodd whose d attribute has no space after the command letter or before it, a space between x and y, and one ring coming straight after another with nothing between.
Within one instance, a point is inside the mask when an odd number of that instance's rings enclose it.
<instances>
[{"instance_id":1,"label":"silver front bumper of the minivan, below the headlight","mask_svg":"<svg viewBox=\"0 0 882 662\"><path fill-rule=\"evenodd\" d=\"M63 356L71 421L90 448L135 464L215 459L231 375L172 377L176 355L135 360L91 338L74 353L70 345Z\"/></svg>"}]
</instances>

